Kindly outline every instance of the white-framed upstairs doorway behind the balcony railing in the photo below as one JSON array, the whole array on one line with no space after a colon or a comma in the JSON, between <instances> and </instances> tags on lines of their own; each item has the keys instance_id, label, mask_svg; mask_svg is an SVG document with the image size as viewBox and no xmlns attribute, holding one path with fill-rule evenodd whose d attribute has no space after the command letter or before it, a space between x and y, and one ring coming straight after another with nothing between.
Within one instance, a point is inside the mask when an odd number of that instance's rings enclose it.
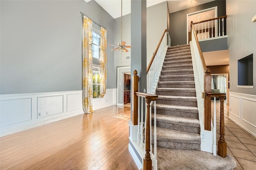
<instances>
[{"instance_id":1,"label":"white-framed upstairs doorway behind the balcony railing","mask_svg":"<svg viewBox=\"0 0 256 170\"><path fill-rule=\"evenodd\" d=\"M191 41L191 28L190 28L190 22L200 22L200 21L204 21L204 20L208 20L208 19L212 19L212 18L216 18L218 17L218 6L212 7L212 8L208 8L205 10L200 10L197 12L192 12L190 14L187 14L187 44ZM217 25L214 23L214 25ZM204 30L204 26L202 26L203 30L200 33L198 31L197 34L208 34L209 32L216 32L218 31L217 29L214 30L207 30L207 32L205 32Z\"/></svg>"}]
</instances>

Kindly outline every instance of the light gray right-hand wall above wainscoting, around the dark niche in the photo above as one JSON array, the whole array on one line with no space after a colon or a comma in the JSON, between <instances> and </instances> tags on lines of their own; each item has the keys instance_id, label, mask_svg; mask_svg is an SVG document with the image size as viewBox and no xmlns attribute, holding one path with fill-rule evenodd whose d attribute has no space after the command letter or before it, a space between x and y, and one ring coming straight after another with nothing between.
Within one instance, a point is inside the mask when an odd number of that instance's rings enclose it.
<instances>
[{"instance_id":1,"label":"light gray right-hand wall above wainscoting, around the dark niche","mask_svg":"<svg viewBox=\"0 0 256 170\"><path fill-rule=\"evenodd\" d=\"M227 34L230 65L230 91L256 95L256 62L253 61L253 89L238 88L238 60L253 53L256 54L256 1L242 0L226 1L227 7Z\"/></svg>"}]
</instances>

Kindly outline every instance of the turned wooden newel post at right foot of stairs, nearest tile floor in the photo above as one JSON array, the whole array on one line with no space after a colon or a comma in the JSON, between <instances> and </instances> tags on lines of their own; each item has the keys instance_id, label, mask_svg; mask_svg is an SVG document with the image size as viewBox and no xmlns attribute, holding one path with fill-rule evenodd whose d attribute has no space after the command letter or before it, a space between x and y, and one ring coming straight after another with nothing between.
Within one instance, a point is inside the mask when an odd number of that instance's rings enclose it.
<instances>
[{"instance_id":1,"label":"turned wooden newel post at right foot of stairs, nearest tile floor","mask_svg":"<svg viewBox=\"0 0 256 170\"><path fill-rule=\"evenodd\" d=\"M226 158L227 156L227 143L224 138L224 125L224 97L220 97L220 140L218 141L218 155L222 158Z\"/></svg>"}]
</instances>

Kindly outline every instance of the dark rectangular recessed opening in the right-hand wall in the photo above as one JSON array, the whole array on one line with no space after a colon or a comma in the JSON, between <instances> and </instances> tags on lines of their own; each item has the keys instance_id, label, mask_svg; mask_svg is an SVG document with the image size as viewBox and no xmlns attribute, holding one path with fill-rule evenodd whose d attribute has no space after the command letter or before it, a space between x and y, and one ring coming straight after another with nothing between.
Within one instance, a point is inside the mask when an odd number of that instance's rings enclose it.
<instances>
[{"instance_id":1,"label":"dark rectangular recessed opening in the right-hand wall","mask_svg":"<svg viewBox=\"0 0 256 170\"><path fill-rule=\"evenodd\" d=\"M253 86L252 54L238 60L238 86Z\"/></svg>"}]
</instances>

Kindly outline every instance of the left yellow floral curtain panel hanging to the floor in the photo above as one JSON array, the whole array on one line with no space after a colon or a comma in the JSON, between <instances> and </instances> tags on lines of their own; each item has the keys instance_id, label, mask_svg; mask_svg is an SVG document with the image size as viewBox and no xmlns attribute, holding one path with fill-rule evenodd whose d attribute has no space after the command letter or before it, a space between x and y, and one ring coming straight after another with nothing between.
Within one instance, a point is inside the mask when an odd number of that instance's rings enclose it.
<instances>
[{"instance_id":1,"label":"left yellow floral curtain panel hanging to the floor","mask_svg":"<svg viewBox=\"0 0 256 170\"><path fill-rule=\"evenodd\" d=\"M92 20L84 16L83 29L83 110L93 113L92 109Z\"/></svg>"}]
</instances>

